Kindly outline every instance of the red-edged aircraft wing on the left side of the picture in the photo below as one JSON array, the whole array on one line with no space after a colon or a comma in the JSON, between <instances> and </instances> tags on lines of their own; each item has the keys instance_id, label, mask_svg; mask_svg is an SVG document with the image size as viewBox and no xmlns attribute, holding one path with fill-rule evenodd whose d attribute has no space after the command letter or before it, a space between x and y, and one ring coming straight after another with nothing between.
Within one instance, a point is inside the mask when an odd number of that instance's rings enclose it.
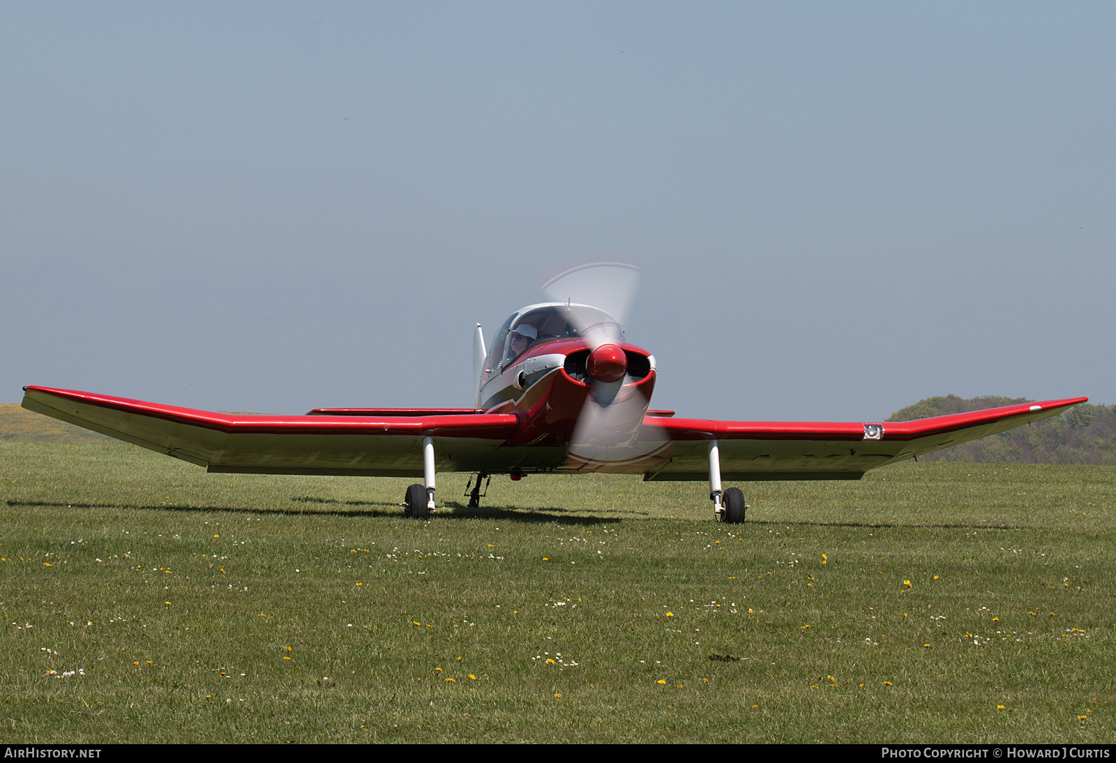
<instances>
[{"instance_id":1,"label":"red-edged aircraft wing on the left side of the picture","mask_svg":"<svg viewBox=\"0 0 1116 763\"><path fill-rule=\"evenodd\" d=\"M439 471L499 470L513 415L374 409L252 416L179 408L71 389L23 387L23 407L210 472L423 476L422 441ZM513 462L507 467L510 469Z\"/></svg>"}]
</instances>

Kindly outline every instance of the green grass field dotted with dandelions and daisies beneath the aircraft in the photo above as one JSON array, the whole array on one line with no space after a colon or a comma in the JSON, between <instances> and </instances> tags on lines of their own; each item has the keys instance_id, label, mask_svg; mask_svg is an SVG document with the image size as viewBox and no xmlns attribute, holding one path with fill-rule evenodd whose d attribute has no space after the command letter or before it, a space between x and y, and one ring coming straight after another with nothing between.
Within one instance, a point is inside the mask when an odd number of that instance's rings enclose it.
<instances>
[{"instance_id":1,"label":"green grass field dotted with dandelions and daisies beneath the aircraft","mask_svg":"<svg viewBox=\"0 0 1116 763\"><path fill-rule=\"evenodd\" d=\"M6 742L1112 742L1116 467L210 475L0 442Z\"/></svg>"}]
</instances>

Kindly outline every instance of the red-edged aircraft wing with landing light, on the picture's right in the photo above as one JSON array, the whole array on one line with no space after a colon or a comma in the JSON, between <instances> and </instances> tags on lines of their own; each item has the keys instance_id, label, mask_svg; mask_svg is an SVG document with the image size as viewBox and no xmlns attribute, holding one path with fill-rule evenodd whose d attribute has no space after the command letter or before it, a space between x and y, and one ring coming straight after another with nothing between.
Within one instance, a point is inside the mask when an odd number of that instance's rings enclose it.
<instances>
[{"instance_id":1,"label":"red-edged aircraft wing with landing light, on the picture's right","mask_svg":"<svg viewBox=\"0 0 1116 763\"><path fill-rule=\"evenodd\" d=\"M1087 397L1046 400L913 422L714 422L644 418L641 443L668 458L644 480L708 480L708 443L718 441L721 479L859 480L869 469L1057 416Z\"/></svg>"}]
</instances>

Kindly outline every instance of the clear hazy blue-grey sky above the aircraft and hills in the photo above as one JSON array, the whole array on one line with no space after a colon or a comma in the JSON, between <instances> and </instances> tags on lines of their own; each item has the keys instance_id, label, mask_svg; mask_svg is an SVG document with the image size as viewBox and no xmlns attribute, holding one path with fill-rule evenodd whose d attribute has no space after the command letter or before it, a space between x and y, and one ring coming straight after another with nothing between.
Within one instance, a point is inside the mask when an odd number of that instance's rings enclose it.
<instances>
[{"instance_id":1,"label":"clear hazy blue-grey sky above the aircraft and hills","mask_svg":"<svg viewBox=\"0 0 1116 763\"><path fill-rule=\"evenodd\" d=\"M1116 403L1116 4L0 3L0 402L468 406L644 264L654 407Z\"/></svg>"}]
</instances>

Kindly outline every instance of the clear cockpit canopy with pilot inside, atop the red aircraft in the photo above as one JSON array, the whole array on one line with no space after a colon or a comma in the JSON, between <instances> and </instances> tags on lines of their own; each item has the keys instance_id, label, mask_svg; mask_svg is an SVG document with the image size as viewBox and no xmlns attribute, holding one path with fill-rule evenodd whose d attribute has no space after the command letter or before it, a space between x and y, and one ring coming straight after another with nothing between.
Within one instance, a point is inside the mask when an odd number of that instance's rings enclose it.
<instances>
[{"instance_id":1,"label":"clear cockpit canopy with pilot inside, atop the red aircraft","mask_svg":"<svg viewBox=\"0 0 1116 763\"><path fill-rule=\"evenodd\" d=\"M607 312L588 305L531 305L513 313L497 329L484 368L496 370L540 341L574 337L620 341L624 329Z\"/></svg>"}]
</instances>

